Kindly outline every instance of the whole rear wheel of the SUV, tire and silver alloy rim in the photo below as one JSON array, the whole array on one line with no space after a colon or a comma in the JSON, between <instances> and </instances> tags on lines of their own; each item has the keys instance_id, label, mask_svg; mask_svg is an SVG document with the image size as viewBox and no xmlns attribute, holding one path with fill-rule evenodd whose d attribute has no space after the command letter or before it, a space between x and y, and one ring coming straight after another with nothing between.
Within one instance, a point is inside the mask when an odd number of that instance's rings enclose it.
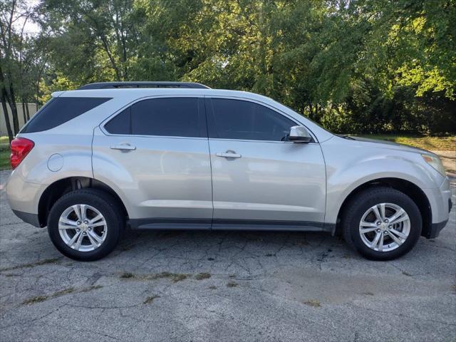
<instances>
[{"instance_id":1,"label":"whole rear wheel of the SUV, tire and silver alloy rim","mask_svg":"<svg viewBox=\"0 0 456 342\"><path fill-rule=\"evenodd\" d=\"M49 237L66 257L80 261L101 259L119 242L125 226L121 213L115 199L105 192L69 192L58 199L49 213Z\"/></svg>"}]
</instances>

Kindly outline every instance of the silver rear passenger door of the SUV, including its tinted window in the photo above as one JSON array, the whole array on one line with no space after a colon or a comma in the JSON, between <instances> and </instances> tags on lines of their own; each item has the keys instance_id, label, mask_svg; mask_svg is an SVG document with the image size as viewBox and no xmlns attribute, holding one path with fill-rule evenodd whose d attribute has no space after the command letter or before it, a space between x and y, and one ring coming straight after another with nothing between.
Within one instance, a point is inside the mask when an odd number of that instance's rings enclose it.
<instances>
[{"instance_id":1,"label":"silver rear passenger door of the SUV, including its tinted window","mask_svg":"<svg viewBox=\"0 0 456 342\"><path fill-rule=\"evenodd\" d=\"M123 194L134 226L210 228L204 99L148 98L95 130L93 173Z\"/></svg>"}]
</instances>

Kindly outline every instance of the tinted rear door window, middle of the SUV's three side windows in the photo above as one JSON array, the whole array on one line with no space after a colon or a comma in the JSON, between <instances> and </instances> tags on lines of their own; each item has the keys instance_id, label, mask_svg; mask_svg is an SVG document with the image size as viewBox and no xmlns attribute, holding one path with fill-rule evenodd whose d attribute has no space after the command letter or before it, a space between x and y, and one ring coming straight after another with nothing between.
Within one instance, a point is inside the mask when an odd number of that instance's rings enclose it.
<instances>
[{"instance_id":1,"label":"tinted rear door window, middle of the SUV's three side windows","mask_svg":"<svg viewBox=\"0 0 456 342\"><path fill-rule=\"evenodd\" d=\"M206 137L204 103L199 98L142 100L105 125L112 134Z\"/></svg>"}]
</instances>

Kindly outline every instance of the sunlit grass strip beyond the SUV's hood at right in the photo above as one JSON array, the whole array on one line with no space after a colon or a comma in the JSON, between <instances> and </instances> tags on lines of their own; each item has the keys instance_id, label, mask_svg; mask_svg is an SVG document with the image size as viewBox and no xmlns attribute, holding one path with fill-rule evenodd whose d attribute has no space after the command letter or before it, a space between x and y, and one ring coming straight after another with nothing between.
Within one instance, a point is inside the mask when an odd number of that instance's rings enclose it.
<instances>
[{"instance_id":1,"label":"sunlit grass strip beyond the SUV's hood at right","mask_svg":"<svg viewBox=\"0 0 456 342\"><path fill-rule=\"evenodd\" d=\"M364 138L388 140L404 145L423 148L424 150L456 150L456 136L450 137L428 137L418 135L394 135L394 134L373 134L359 135Z\"/></svg>"}]
</instances>

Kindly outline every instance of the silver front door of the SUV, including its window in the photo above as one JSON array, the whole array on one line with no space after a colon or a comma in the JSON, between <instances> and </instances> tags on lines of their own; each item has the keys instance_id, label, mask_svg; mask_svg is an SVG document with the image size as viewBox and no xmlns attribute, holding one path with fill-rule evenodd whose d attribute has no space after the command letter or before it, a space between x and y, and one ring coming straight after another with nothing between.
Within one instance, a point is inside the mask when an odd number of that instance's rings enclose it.
<instances>
[{"instance_id":1,"label":"silver front door of the SUV, including its window","mask_svg":"<svg viewBox=\"0 0 456 342\"><path fill-rule=\"evenodd\" d=\"M212 227L322 226L326 171L320 145L286 141L294 119L239 98L206 102L212 162Z\"/></svg>"}]
</instances>

